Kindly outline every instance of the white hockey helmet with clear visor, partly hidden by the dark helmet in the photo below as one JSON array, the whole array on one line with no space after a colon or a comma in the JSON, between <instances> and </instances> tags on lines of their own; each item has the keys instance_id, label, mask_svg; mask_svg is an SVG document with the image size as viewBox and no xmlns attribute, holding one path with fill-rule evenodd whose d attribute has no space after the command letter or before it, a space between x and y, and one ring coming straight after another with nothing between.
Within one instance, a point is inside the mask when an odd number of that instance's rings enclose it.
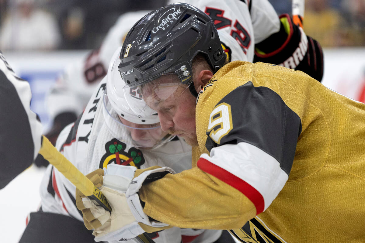
<instances>
[{"instance_id":1,"label":"white hockey helmet with clear visor, partly hidden by the dark helmet","mask_svg":"<svg viewBox=\"0 0 365 243\"><path fill-rule=\"evenodd\" d=\"M129 141L132 146L140 148L157 148L175 136L161 130L157 112L146 105L138 89L131 88L129 94L117 91L120 84L124 86L118 70L120 50L121 47L115 51L106 75L106 89L103 96L105 122L116 138ZM127 102L125 95L134 98L130 98ZM137 110L141 110L142 113L135 114L130 106L135 109L138 107ZM128 132L121 133L123 130ZM126 138L126 134L130 137Z\"/></svg>"}]
</instances>

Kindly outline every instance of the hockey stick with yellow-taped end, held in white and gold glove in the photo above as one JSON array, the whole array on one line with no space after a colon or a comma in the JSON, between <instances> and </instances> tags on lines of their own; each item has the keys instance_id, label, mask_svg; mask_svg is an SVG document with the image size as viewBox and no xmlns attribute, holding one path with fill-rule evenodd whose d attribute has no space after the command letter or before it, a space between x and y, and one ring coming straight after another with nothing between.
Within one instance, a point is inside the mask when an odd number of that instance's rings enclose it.
<instances>
[{"instance_id":1,"label":"hockey stick with yellow-taped end, held in white and gold glove","mask_svg":"<svg viewBox=\"0 0 365 243\"><path fill-rule=\"evenodd\" d=\"M42 136L42 146L38 152L49 161L59 172L62 173L72 184L75 185L85 196L96 200L99 205L109 212L112 210L106 197L99 189L95 187L91 180L82 174L63 154L51 144L51 142ZM146 233L134 238L138 243L155 243Z\"/></svg>"}]
</instances>

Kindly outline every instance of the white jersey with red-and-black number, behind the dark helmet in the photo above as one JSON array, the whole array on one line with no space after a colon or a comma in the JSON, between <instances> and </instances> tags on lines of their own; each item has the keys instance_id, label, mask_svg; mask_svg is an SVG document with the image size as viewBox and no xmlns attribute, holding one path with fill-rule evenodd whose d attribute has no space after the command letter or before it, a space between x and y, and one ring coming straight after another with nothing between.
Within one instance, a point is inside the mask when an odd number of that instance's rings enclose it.
<instances>
[{"instance_id":1,"label":"white jersey with red-and-black number, behind the dark helmet","mask_svg":"<svg viewBox=\"0 0 365 243\"><path fill-rule=\"evenodd\" d=\"M169 0L191 4L211 17L230 61L253 62L254 46L280 30L268 0Z\"/></svg>"}]
</instances>

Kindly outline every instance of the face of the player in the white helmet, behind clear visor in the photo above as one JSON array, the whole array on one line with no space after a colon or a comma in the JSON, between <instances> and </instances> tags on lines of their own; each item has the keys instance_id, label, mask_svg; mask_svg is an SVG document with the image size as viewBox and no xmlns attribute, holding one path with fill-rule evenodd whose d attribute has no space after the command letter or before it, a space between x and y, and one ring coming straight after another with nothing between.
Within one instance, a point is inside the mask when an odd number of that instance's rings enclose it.
<instances>
[{"instance_id":1,"label":"face of the player in the white helmet, behind clear visor","mask_svg":"<svg viewBox=\"0 0 365 243\"><path fill-rule=\"evenodd\" d=\"M131 137L137 146L139 145L144 148L151 148L168 134L168 132L161 130L159 123L136 124L127 121L120 116L119 119L124 125L126 125L127 130L131 133Z\"/></svg>"}]
</instances>

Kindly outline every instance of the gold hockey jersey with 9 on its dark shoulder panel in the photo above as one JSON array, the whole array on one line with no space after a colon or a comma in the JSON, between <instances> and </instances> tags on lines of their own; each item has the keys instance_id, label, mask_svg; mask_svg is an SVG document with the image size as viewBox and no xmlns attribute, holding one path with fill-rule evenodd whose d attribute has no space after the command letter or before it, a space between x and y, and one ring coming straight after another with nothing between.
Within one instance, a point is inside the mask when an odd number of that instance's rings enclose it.
<instances>
[{"instance_id":1,"label":"gold hockey jersey with 9 on its dark shoulder panel","mask_svg":"<svg viewBox=\"0 0 365 243\"><path fill-rule=\"evenodd\" d=\"M249 243L365 242L363 103L236 61L201 90L196 132L193 168L139 191L150 217Z\"/></svg>"}]
</instances>

